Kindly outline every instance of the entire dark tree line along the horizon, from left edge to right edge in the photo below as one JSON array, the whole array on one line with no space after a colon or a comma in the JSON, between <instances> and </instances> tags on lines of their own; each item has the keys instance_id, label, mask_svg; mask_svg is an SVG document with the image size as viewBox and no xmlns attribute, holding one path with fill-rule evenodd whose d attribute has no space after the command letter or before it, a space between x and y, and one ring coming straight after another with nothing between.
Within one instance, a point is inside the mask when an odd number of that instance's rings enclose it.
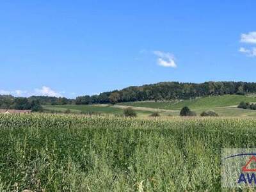
<instances>
[{"instance_id":1,"label":"entire dark tree line along the horizon, from left edge to right edge","mask_svg":"<svg viewBox=\"0 0 256 192\"><path fill-rule=\"evenodd\" d=\"M174 100L193 99L195 97L216 96L225 94L245 95L256 93L256 83L247 82L205 82L205 83L179 83L163 82L145 84L143 86L130 86L122 90L104 92L99 95L84 95L76 99L65 97L31 96L28 98L0 95L0 108L10 109L40 109L42 105L63 104L115 104L117 102L132 102L143 100Z\"/></svg>"}]
</instances>

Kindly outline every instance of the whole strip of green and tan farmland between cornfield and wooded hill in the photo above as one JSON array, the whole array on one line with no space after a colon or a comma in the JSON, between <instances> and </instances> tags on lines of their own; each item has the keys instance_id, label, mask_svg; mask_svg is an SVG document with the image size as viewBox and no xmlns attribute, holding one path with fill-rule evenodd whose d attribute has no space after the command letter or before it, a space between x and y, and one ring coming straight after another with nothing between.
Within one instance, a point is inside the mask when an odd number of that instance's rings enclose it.
<instances>
[{"instance_id":1,"label":"whole strip of green and tan farmland between cornfield and wooded hill","mask_svg":"<svg viewBox=\"0 0 256 192\"><path fill-rule=\"evenodd\" d=\"M92 105L57 105L44 106L47 111L65 112L70 109L72 113L100 113L121 115L123 109L132 107L138 116L148 116L154 111L158 111L161 116L179 116L182 107L188 106L198 115L205 110L214 110L220 116L247 116L256 117L256 111L250 109L239 109L236 106L239 102L256 102L255 96L248 97L245 95L223 95L215 97L200 97L190 100L173 100L169 102L122 102L115 105L111 104L92 104Z\"/></svg>"}]
</instances>

